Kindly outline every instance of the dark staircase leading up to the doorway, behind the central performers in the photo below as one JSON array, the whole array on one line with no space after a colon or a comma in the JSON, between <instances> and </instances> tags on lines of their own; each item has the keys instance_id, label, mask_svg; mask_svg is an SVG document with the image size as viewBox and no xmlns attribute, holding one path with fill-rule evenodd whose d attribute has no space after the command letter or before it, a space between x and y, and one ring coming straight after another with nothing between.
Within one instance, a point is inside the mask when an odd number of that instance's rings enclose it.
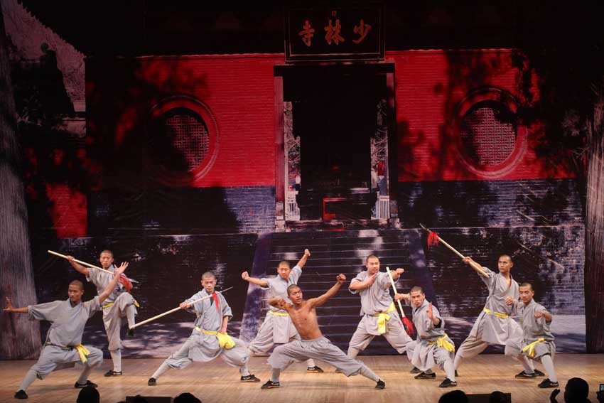
<instances>
[{"instance_id":1,"label":"dark staircase leading up to the doorway, behind the central performers","mask_svg":"<svg viewBox=\"0 0 604 403\"><path fill-rule=\"evenodd\" d=\"M276 275L276 267L281 260L288 260L293 264L303 254L304 249L311 251L303 274L298 285L301 286L305 299L310 299L330 289L335 284L335 276L340 273L346 275L347 284L359 272L365 270L365 258L369 254L376 254L381 263L381 271L386 267L396 269L403 267L405 273L401 276L397 287L401 292L409 292L414 285L426 287L426 294L432 289L431 276L425 267L424 251L421 248L421 239L416 230L347 230L336 232L283 232L271 235L270 245L266 245L264 253L264 273L260 268L254 268L253 276ZM257 250L257 254L260 251ZM260 262L257 262L260 264ZM253 291L253 290L250 290ZM254 293L248 293L248 299ZM252 298L263 298L261 290L259 295ZM252 301L246 304L246 314L252 308ZM257 308L256 318L259 323L264 320L268 307L261 305ZM318 321L321 331L335 345L346 351L348 342L359 323L360 297L350 294L347 286L338 292L325 305L317 308ZM405 314L410 317L409 308ZM251 319L251 320L250 320ZM257 320L258 320L257 319ZM247 326L248 337L253 337L253 318L244 318L244 327ZM244 329L242 329L244 333ZM254 333L255 334L255 333ZM245 337L244 337L245 338ZM383 355L396 353L387 341L377 336L364 354Z\"/></svg>"}]
</instances>

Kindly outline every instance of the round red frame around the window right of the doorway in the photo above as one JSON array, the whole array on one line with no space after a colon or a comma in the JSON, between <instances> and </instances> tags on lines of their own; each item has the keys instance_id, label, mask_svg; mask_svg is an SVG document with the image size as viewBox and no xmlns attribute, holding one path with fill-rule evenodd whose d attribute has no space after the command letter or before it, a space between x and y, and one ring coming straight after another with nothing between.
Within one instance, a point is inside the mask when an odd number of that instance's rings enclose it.
<instances>
[{"instance_id":1,"label":"round red frame around the window right of the doorway","mask_svg":"<svg viewBox=\"0 0 604 403\"><path fill-rule=\"evenodd\" d=\"M509 109L509 112L517 115L517 101L511 94L509 94L509 92L500 90L499 88L482 88L480 90L470 92L470 94L459 102L455 112L453 134L455 136L455 146L458 153L462 157L460 158L460 161L463 163L463 166L477 176L494 178L504 176L513 171L522 160L522 156L527 149L527 127L519 122L516 123L516 141L514 143L514 149L504 161L492 166L478 165L478 163L474 161L474 158L472 158L468 152L465 151L465 145L461 139L461 127L465 114L467 114L470 109L475 107L475 105L485 101L500 102L504 107Z\"/></svg>"}]
</instances>

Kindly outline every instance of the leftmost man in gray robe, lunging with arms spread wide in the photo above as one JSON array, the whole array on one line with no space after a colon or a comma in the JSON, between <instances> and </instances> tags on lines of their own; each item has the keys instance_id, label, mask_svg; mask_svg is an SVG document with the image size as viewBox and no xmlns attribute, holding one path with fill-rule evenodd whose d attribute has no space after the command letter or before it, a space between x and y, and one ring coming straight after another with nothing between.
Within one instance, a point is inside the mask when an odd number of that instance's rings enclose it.
<instances>
[{"instance_id":1,"label":"leftmost man in gray robe, lunging with arms spread wide","mask_svg":"<svg viewBox=\"0 0 604 403\"><path fill-rule=\"evenodd\" d=\"M52 323L42 353L38 362L28 370L15 393L16 399L27 399L26 389L32 384L36 377L43 380L53 370L72 367L75 362L82 362L84 369L75 382L75 387L87 386L97 387L95 383L88 380L92 367L97 367L103 362L103 353L98 348L82 345L82 333L84 326L95 312L100 311L101 305L112 294L119 276L128 267L122 263L114 271L113 279L105 286L105 289L94 299L82 302L84 295L84 284L80 280L71 281L68 289L69 299L65 301L53 301L38 303L23 308L14 308L11 300L6 298L5 312L27 313L31 320L49 321Z\"/></svg>"}]
</instances>

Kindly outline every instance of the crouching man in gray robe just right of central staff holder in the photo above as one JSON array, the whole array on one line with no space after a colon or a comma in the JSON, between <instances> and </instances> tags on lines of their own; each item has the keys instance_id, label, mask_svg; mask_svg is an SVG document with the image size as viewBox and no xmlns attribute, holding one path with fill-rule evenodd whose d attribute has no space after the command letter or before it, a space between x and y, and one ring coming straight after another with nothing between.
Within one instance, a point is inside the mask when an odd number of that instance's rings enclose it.
<instances>
[{"instance_id":1,"label":"crouching man in gray robe just right of central staff holder","mask_svg":"<svg viewBox=\"0 0 604 403\"><path fill-rule=\"evenodd\" d=\"M455 381L455 345L445 333L445 320L438 309L426 301L424 289L414 286L409 294L397 294L394 299L405 300L413 306L413 323L417 331L417 340L407 345L407 357L414 367L421 370L416 380L435 379L432 368L438 365L445 370L447 377L440 387L457 386Z\"/></svg>"}]
</instances>

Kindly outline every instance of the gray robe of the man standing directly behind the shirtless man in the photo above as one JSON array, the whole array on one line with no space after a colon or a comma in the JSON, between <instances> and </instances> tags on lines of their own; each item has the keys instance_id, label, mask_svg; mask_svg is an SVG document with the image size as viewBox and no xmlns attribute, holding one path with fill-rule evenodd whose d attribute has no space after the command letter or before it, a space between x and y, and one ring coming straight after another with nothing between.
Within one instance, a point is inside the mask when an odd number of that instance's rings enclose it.
<instances>
[{"instance_id":1,"label":"gray robe of the man standing directly behind the shirtless man","mask_svg":"<svg viewBox=\"0 0 604 403\"><path fill-rule=\"evenodd\" d=\"M288 301L287 287L298 284L301 274L302 269L296 266L291 269L287 281L280 276L263 278L262 281L266 281L267 286L261 289L266 290L266 298L284 298ZM300 338L296 327L291 323L291 318L284 315L287 315L287 311L270 306L258 334L249 342L249 348L254 353L266 354L275 344L288 343L294 338Z\"/></svg>"}]
</instances>

